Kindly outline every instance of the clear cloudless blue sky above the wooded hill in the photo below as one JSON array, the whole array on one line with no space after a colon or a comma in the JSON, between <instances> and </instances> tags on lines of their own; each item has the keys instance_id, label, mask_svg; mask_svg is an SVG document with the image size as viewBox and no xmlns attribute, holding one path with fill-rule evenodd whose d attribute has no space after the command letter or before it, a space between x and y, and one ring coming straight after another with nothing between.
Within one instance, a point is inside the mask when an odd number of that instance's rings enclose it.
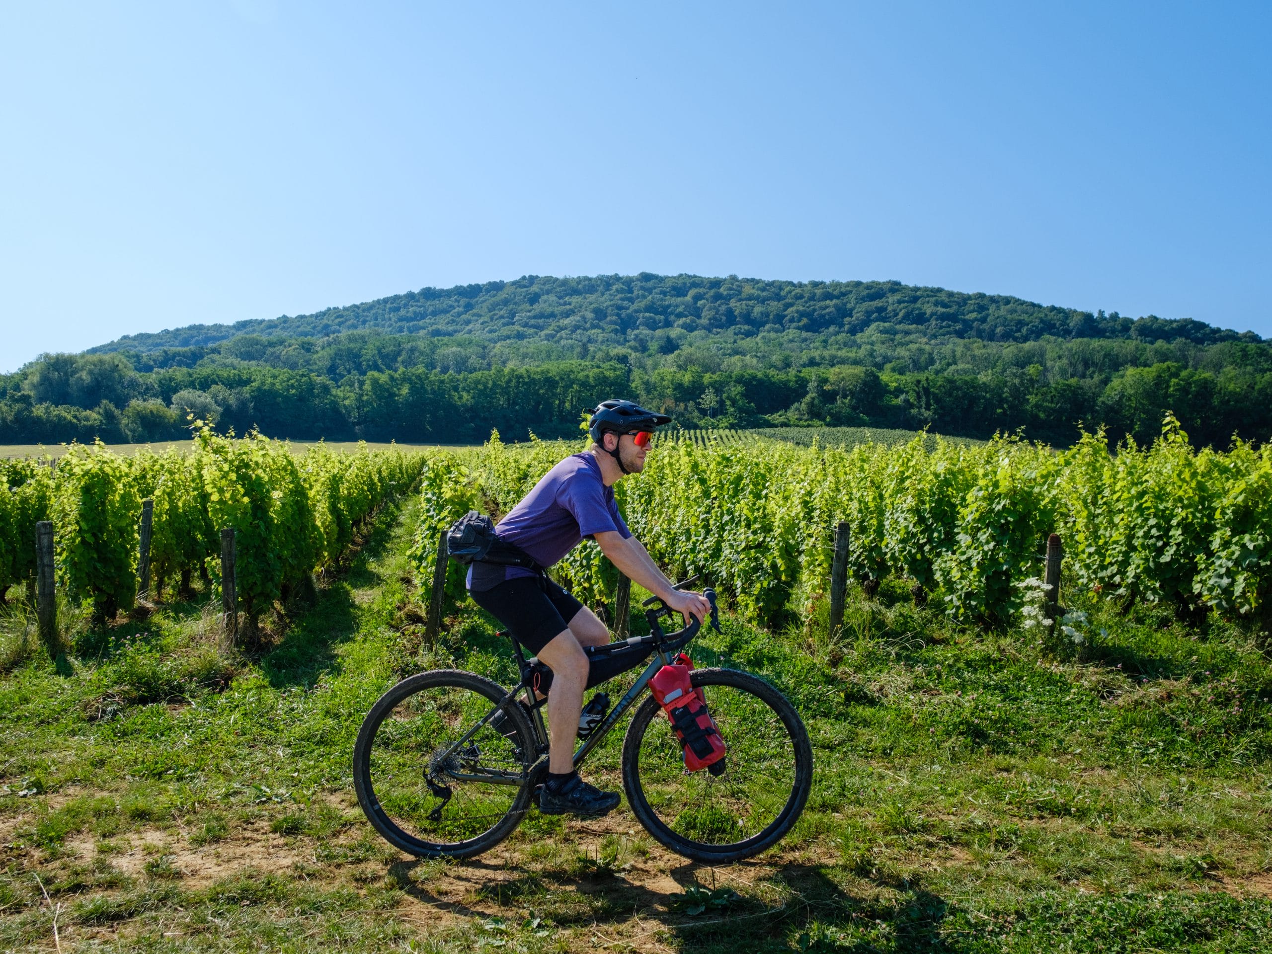
<instances>
[{"instance_id":1,"label":"clear cloudless blue sky above the wooded hill","mask_svg":"<svg viewBox=\"0 0 1272 954\"><path fill-rule=\"evenodd\" d=\"M1272 336L1272 4L9 3L0 370L597 272Z\"/></svg>"}]
</instances>

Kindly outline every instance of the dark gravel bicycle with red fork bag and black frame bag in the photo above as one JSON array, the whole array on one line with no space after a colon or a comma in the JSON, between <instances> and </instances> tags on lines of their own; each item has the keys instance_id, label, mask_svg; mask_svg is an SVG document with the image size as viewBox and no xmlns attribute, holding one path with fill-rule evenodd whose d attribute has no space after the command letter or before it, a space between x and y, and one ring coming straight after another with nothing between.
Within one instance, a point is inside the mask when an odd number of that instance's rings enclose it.
<instances>
[{"instance_id":1,"label":"dark gravel bicycle with red fork bag and black frame bag","mask_svg":"<svg viewBox=\"0 0 1272 954\"><path fill-rule=\"evenodd\" d=\"M703 595L719 631L715 591ZM575 768L701 628L686 618L684 628L664 633L660 621L672 611L658 598L645 605L650 635L588 650L594 673L613 670L597 686L653 659L580 738ZM550 670L527 659L510 633L502 635L513 641L520 669L511 689L476 673L431 670L391 688L363 721L354 747L359 804L371 826L407 854L463 859L488 851L513 833L543 782L548 735L534 688ZM695 669L691 678L729 747L724 770L687 772L681 742L668 719L655 719L660 707L649 695L623 738L627 804L659 843L688 859L722 864L750 857L776 845L804 810L813 784L808 730L786 697L757 675L712 668ZM497 729L491 725L496 712L505 716Z\"/></svg>"}]
</instances>

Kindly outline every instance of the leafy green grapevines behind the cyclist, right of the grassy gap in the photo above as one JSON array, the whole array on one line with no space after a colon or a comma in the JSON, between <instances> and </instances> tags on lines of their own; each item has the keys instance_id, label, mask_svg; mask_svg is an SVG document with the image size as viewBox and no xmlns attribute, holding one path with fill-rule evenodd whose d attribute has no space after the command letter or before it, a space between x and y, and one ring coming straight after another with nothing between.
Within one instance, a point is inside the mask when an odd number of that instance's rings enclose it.
<instances>
[{"instance_id":1,"label":"leafy green grapevines behind the cyclist, right of the grassy gap","mask_svg":"<svg viewBox=\"0 0 1272 954\"><path fill-rule=\"evenodd\" d=\"M469 508L506 513L577 444L436 452L421 477L413 551L431 579L436 533ZM1010 438L973 445L795 446L693 435L664 440L645 472L616 486L650 553L677 576L703 574L749 618L777 625L827 589L833 530L850 528L848 571L888 576L955 619L1009 623L1037 589L1046 539L1065 539L1065 583L1098 599L1166 602L1184 617L1272 604L1272 448L1196 452L1168 418L1151 446L1110 449L1102 434L1070 450ZM609 602L617 572L595 544L557 575L580 599ZM448 589L462 595L460 567ZM1266 618L1266 617L1264 617Z\"/></svg>"}]
</instances>

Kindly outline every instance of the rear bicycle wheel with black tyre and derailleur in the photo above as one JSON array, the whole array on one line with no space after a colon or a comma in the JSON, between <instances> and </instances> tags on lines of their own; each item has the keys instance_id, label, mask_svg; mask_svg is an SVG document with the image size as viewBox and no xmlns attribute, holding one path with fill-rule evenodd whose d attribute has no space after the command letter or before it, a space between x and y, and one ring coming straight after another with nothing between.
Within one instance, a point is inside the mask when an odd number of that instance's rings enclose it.
<instances>
[{"instance_id":1,"label":"rear bicycle wheel with black tyre and derailleur","mask_svg":"<svg viewBox=\"0 0 1272 954\"><path fill-rule=\"evenodd\" d=\"M471 857L516 828L534 761L520 706L504 710L515 740L487 722L445 756L505 695L474 673L438 669L403 679L371 706L354 745L354 789L391 845L422 857Z\"/></svg>"}]
</instances>

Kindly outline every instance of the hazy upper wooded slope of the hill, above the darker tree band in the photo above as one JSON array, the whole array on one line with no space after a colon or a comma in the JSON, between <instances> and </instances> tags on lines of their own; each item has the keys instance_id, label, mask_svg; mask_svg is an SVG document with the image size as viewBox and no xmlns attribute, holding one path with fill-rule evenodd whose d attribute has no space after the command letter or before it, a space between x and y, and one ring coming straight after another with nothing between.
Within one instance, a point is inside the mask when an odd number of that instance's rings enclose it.
<instances>
[{"instance_id":1,"label":"hazy upper wooded slope of the hill, above the darker tree band","mask_svg":"<svg viewBox=\"0 0 1272 954\"><path fill-rule=\"evenodd\" d=\"M191 324L130 335L93 352L150 354L209 349L242 335L322 338L355 331L431 337L472 336L490 343L543 341L575 349L640 346L658 332L800 332L814 336L883 333L930 342L977 338L993 342L1057 338L1186 340L1198 345L1259 341L1257 335L1213 328L1189 318L1131 319L1039 305L1010 295L967 294L895 281L762 281L696 275L556 279L530 275L450 289L425 287L317 314ZM268 349L266 349L268 350ZM179 361L182 356L172 355Z\"/></svg>"}]
</instances>

